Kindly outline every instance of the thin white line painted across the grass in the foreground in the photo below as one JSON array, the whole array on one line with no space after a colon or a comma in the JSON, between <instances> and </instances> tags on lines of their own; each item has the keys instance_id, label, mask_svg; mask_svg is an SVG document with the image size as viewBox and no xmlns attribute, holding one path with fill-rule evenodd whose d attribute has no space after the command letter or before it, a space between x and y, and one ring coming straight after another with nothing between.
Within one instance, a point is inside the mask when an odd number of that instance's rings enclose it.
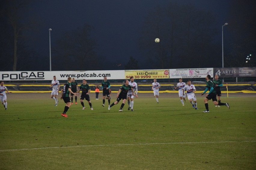
<instances>
[{"instance_id":1,"label":"thin white line painted across the grass in the foreground","mask_svg":"<svg viewBox=\"0 0 256 170\"><path fill-rule=\"evenodd\" d=\"M256 142L256 141L222 141L222 142L172 142L172 143L134 143L134 144L116 144L116 145L84 145L84 146L58 146L46 148L30 148L30 149L8 149L3 151L24 151L37 149L54 149L54 148L78 148L78 147L97 147L97 146L135 146L135 145L168 145L168 144L197 144L197 143L242 143L242 142Z\"/></svg>"}]
</instances>

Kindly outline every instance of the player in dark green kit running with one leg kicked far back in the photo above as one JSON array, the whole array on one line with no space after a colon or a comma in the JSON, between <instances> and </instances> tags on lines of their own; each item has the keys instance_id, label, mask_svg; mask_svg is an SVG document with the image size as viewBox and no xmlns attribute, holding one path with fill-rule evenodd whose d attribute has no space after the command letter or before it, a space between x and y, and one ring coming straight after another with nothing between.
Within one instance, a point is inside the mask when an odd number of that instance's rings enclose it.
<instances>
[{"instance_id":1,"label":"player in dark green kit running with one leg kicked far back","mask_svg":"<svg viewBox=\"0 0 256 170\"><path fill-rule=\"evenodd\" d=\"M209 90L209 93L206 94L206 97L204 99L204 105L205 105L205 108L206 108L206 111L203 111L204 113L207 113L209 112L209 107L208 107L208 100L211 100L212 99L212 102L214 105L224 105L224 106L227 106L227 108L230 108L228 103L221 103L221 102L217 102L217 98L216 98L216 91L213 89L213 82L210 80L211 79L211 76L208 74L206 76L206 89L205 91L201 94L201 96L203 96L203 94L205 94L208 90Z\"/></svg>"}]
</instances>

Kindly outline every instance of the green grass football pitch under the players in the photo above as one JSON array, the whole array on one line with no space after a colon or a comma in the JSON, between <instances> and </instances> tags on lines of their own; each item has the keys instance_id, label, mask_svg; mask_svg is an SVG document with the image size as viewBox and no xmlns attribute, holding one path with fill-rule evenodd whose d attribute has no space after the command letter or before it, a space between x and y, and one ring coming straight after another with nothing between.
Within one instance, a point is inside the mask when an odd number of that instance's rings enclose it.
<instances>
[{"instance_id":1,"label":"green grass football pitch under the players","mask_svg":"<svg viewBox=\"0 0 256 170\"><path fill-rule=\"evenodd\" d=\"M230 109L209 101L209 113L196 95L199 110L178 94L138 94L118 112L91 94L93 111L78 101L64 118L48 93L7 94L0 169L256 169L256 95L223 94Z\"/></svg>"}]
</instances>

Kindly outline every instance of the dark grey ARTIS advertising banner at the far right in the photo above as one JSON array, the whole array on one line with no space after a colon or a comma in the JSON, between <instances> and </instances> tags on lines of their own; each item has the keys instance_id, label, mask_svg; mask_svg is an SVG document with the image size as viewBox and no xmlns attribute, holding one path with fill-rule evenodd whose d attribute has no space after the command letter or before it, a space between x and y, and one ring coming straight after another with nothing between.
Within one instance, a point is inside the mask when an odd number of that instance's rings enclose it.
<instances>
[{"instance_id":1,"label":"dark grey ARTIS advertising banner at the far right","mask_svg":"<svg viewBox=\"0 0 256 170\"><path fill-rule=\"evenodd\" d=\"M256 67L213 68L219 77L256 77Z\"/></svg>"}]
</instances>

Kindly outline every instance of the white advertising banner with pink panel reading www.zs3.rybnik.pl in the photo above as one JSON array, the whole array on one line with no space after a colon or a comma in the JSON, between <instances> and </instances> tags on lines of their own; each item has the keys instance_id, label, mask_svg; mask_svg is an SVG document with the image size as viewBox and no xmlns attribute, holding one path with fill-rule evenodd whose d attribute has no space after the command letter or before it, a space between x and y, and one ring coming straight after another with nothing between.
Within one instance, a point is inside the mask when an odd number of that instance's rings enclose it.
<instances>
[{"instance_id":1,"label":"white advertising banner with pink panel reading www.zs3.rybnik.pl","mask_svg":"<svg viewBox=\"0 0 256 170\"><path fill-rule=\"evenodd\" d=\"M177 78L202 78L208 74L213 76L213 68L180 68L170 69L170 79Z\"/></svg>"}]
</instances>

